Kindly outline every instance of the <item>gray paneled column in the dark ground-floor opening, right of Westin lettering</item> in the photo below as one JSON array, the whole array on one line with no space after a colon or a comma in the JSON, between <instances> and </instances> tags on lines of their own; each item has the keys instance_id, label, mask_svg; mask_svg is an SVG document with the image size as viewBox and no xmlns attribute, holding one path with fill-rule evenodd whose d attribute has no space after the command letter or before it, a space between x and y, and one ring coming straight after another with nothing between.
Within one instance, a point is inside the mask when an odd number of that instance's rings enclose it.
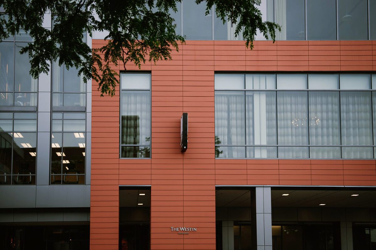
<instances>
[{"instance_id":1,"label":"gray paneled column in the dark ground-floor opening, right of Westin lettering","mask_svg":"<svg viewBox=\"0 0 376 250\"><path fill-rule=\"evenodd\" d=\"M271 250L271 190L256 187L251 192L252 250Z\"/></svg>"}]
</instances>

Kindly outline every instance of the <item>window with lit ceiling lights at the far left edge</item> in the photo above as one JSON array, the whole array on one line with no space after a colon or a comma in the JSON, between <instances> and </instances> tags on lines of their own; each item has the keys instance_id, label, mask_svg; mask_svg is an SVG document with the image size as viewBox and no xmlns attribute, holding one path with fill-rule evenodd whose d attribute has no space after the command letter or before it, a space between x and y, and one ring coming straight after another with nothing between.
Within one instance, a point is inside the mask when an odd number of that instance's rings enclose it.
<instances>
[{"instance_id":1,"label":"window with lit ceiling lights at the far left edge","mask_svg":"<svg viewBox=\"0 0 376 250\"><path fill-rule=\"evenodd\" d=\"M36 113L0 113L0 184L35 184Z\"/></svg>"}]
</instances>

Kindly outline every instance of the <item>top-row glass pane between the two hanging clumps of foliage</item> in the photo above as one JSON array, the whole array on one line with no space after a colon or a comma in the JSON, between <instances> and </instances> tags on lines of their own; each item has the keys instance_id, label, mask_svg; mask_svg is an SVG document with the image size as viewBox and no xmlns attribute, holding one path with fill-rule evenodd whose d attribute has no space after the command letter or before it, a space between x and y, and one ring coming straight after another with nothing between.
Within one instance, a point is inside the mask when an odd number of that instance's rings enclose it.
<instances>
[{"instance_id":1,"label":"top-row glass pane between the two hanging clumps of foliage","mask_svg":"<svg viewBox=\"0 0 376 250\"><path fill-rule=\"evenodd\" d=\"M206 3L196 4L193 0L182 2L183 9L183 35L187 40L212 39L212 10L208 15ZM192 15L194 13L194 16Z\"/></svg>"}]
</instances>

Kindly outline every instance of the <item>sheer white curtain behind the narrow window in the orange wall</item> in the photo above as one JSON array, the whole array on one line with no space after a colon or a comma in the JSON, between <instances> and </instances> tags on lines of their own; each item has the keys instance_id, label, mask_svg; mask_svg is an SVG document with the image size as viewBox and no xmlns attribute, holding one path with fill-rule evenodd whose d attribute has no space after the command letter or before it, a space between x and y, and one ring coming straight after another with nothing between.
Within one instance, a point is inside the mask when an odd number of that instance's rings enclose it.
<instances>
[{"instance_id":1,"label":"sheer white curtain behind the narrow window in the orange wall","mask_svg":"<svg viewBox=\"0 0 376 250\"><path fill-rule=\"evenodd\" d=\"M150 92L149 91L122 91L121 116L138 117L139 138L135 141L140 145L150 145ZM126 128L121 128L122 141L127 136Z\"/></svg>"}]
</instances>

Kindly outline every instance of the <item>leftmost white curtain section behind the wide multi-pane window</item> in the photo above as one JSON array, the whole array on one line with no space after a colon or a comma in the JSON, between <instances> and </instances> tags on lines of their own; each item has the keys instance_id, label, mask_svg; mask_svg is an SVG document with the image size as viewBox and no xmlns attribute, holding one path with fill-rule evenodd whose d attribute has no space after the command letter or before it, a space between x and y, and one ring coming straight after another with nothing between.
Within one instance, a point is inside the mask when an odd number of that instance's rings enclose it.
<instances>
[{"instance_id":1,"label":"leftmost white curtain section behind the wide multi-pane window","mask_svg":"<svg viewBox=\"0 0 376 250\"><path fill-rule=\"evenodd\" d=\"M215 135L222 145L245 145L244 92L215 92ZM228 157L236 158L236 150L228 148Z\"/></svg>"}]
</instances>

